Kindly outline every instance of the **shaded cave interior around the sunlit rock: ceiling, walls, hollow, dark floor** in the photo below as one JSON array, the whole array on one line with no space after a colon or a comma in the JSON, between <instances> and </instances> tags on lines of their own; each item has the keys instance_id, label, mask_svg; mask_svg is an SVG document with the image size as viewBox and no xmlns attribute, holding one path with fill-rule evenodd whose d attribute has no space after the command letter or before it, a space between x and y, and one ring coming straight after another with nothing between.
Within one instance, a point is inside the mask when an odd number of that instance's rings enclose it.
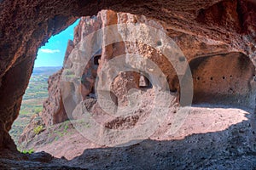
<instances>
[{"instance_id":1,"label":"shaded cave interior around the sunlit rock: ceiling, walls, hollow, dark floor","mask_svg":"<svg viewBox=\"0 0 256 170\"><path fill-rule=\"evenodd\" d=\"M255 168L256 123L253 114L245 114L246 117L241 122L234 122L230 127L218 131L189 133L186 137L182 136L170 141L155 137L131 146L90 149L84 151L84 157L78 156L71 161L53 158L44 152L31 156L20 155L13 139L9 136L9 130L20 111L22 96L31 77L38 48L43 46L49 37L61 32L81 16L93 16L102 9L144 15L160 24L159 26L152 20L148 21L145 17L138 17L139 19L135 17L131 22L139 24L146 20L149 24L153 23L154 27L165 30L183 50L193 73L195 103L221 101L219 103L249 104L254 109L255 98L253 99L253 95L250 94L253 93L252 84L255 77L253 59L256 47L255 8L256 4L253 0L204 2L198 0L193 2L1 0L0 167L9 169L14 167L68 169L83 168L83 166L87 169L94 167L199 169L202 166L212 169L225 168L225 166L230 169ZM115 24L114 20L119 14L110 15L111 20L108 20L107 24ZM109 19L109 15L104 15L102 18ZM130 19L130 15L127 15L124 21L127 19ZM74 42L79 42L79 39L74 39ZM133 50L133 44L129 45ZM161 47L162 43L157 42L157 45ZM108 48L105 54L112 53L113 48L117 47ZM152 53L149 48L143 46L140 46L139 50L148 50L148 54ZM174 54L175 52L173 51ZM184 60L184 58L179 59ZM160 62L169 65L162 60ZM216 72L216 69L219 71ZM212 111L209 116L214 115L213 113ZM232 116L236 115L230 117ZM199 119L200 116L197 118ZM127 121L132 122L133 119ZM196 119L191 119L191 122L193 121L197 122ZM139 153L131 154L136 152Z\"/></svg>"}]
</instances>

